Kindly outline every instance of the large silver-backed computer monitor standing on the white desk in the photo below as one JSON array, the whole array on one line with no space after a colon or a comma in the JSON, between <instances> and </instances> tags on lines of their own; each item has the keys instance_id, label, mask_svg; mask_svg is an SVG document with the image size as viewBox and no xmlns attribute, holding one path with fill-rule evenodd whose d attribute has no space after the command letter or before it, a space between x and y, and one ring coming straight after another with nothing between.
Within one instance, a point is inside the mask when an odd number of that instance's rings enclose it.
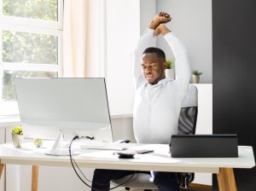
<instances>
[{"instance_id":1,"label":"large silver-backed computer monitor standing on the white desk","mask_svg":"<svg viewBox=\"0 0 256 191\"><path fill-rule=\"evenodd\" d=\"M14 78L14 82L22 125L90 132L84 136L107 129L108 141L113 140L104 78ZM62 155L61 134L49 154Z\"/></svg>"}]
</instances>

